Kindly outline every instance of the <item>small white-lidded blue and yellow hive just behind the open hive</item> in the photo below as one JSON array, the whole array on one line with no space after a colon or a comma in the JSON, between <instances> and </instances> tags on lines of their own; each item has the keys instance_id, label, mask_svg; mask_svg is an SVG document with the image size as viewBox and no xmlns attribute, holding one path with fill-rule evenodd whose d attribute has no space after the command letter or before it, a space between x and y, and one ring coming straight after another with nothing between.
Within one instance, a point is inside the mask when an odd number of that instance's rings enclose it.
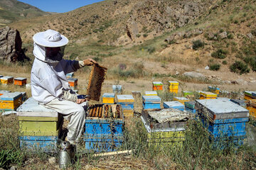
<instances>
[{"instance_id":1,"label":"small white-lidded blue and yellow hive just behind the open hive","mask_svg":"<svg viewBox=\"0 0 256 170\"><path fill-rule=\"evenodd\" d=\"M132 95L117 95L117 104L122 106L124 118L134 115L134 98Z\"/></svg>"}]
</instances>

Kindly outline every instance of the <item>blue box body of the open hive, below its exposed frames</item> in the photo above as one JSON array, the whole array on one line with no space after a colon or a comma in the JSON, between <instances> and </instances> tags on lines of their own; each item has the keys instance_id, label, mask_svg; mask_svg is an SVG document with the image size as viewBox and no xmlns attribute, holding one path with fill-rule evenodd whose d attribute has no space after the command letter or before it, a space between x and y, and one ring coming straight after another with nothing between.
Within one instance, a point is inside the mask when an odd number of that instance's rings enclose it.
<instances>
[{"instance_id":1,"label":"blue box body of the open hive, below its exposed frames","mask_svg":"<svg viewBox=\"0 0 256 170\"><path fill-rule=\"evenodd\" d=\"M85 120L86 152L117 151L123 142L123 116L121 119L90 119Z\"/></svg>"}]
</instances>

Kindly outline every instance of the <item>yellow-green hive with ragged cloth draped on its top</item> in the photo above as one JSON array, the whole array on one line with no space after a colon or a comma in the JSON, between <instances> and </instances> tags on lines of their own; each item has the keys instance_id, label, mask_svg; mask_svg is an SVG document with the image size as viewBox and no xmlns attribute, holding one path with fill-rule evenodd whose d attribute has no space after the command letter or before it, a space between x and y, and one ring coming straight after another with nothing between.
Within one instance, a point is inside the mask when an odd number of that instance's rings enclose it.
<instances>
[{"instance_id":1,"label":"yellow-green hive with ragged cloth draped on its top","mask_svg":"<svg viewBox=\"0 0 256 170\"><path fill-rule=\"evenodd\" d=\"M188 114L173 108L142 111L142 122L148 132L147 142L154 147L182 146Z\"/></svg>"}]
</instances>

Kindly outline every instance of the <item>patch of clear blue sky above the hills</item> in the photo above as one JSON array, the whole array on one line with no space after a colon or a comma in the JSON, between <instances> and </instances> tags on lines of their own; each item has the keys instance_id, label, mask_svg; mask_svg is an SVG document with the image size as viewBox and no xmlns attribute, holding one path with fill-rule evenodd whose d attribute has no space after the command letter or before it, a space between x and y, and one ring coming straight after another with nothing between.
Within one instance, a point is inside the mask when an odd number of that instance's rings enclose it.
<instances>
[{"instance_id":1,"label":"patch of clear blue sky above the hills","mask_svg":"<svg viewBox=\"0 0 256 170\"><path fill-rule=\"evenodd\" d=\"M86 6L103 0L18 0L31 6L36 6L42 11L65 13L81 6Z\"/></svg>"}]
</instances>

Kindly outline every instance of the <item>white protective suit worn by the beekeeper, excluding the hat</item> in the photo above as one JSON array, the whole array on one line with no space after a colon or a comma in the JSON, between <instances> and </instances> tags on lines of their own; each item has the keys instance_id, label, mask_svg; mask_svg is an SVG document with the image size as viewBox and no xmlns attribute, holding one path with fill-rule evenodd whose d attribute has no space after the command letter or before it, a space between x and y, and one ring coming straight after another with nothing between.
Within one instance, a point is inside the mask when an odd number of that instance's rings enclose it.
<instances>
[{"instance_id":1,"label":"white protective suit worn by the beekeeper, excluding the hat","mask_svg":"<svg viewBox=\"0 0 256 170\"><path fill-rule=\"evenodd\" d=\"M34 43L35 60L31 70L31 93L33 98L46 108L51 108L69 120L68 140L78 142L85 125L85 103L75 103L77 95L68 85L65 74L83 67L83 62L63 60L58 54L57 60L46 57L45 47Z\"/></svg>"}]
</instances>

